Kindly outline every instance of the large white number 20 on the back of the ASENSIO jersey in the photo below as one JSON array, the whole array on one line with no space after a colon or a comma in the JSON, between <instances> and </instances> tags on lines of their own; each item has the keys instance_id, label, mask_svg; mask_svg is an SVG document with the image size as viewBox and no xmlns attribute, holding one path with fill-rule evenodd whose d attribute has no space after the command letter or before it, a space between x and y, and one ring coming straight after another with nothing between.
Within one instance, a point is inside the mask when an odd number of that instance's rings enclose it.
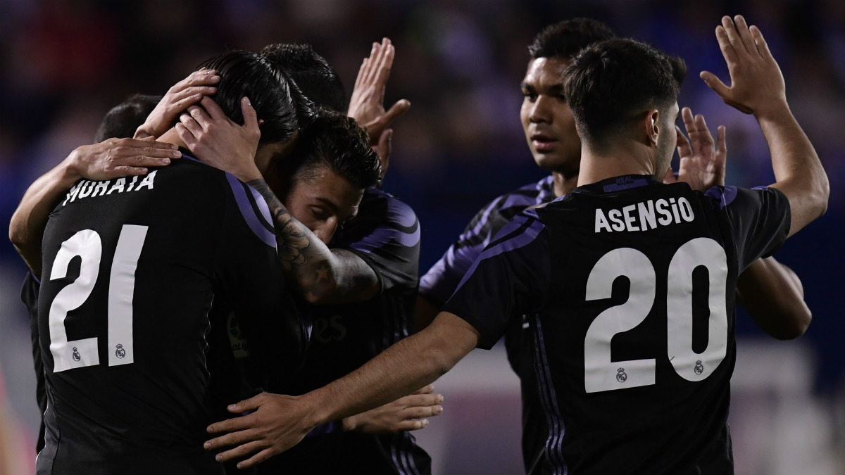
<instances>
[{"instance_id":1,"label":"large white number 20 on the back of the ASENSIO jersey","mask_svg":"<svg viewBox=\"0 0 845 475\"><path fill-rule=\"evenodd\" d=\"M704 352L692 349L692 273L703 265L710 275L710 319ZM640 325L654 304L656 276L651 261L633 248L613 249L598 259L586 282L586 300L610 298L613 281L630 278L628 300L608 308L593 320L584 340L586 392L620 390L655 384L655 359L611 361L610 342L617 333ZM668 268L667 350L675 372L690 381L706 379L725 358L728 346L728 313L725 291L728 259L725 250L710 238L684 243Z\"/></svg>"}]
</instances>

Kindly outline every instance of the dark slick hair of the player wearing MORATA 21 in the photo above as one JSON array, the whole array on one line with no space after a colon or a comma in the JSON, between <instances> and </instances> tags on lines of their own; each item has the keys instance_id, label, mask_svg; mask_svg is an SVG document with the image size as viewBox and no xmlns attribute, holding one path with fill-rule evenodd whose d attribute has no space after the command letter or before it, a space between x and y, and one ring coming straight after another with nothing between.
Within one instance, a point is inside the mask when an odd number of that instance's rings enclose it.
<instances>
[{"instance_id":1,"label":"dark slick hair of the player wearing MORATA 21","mask_svg":"<svg viewBox=\"0 0 845 475\"><path fill-rule=\"evenodd\" d=\"M298 90L294 90L290 79L267 58L254 52L224 52L199 68L214 69L220 76L212 99L233 122L243 124L241 98L249 98L259 119L264 121L259 126L259 144L286 142L300 127L300 117L311 114L303 109L308 103L295 99Z\"/></svg>"}]
</instances>

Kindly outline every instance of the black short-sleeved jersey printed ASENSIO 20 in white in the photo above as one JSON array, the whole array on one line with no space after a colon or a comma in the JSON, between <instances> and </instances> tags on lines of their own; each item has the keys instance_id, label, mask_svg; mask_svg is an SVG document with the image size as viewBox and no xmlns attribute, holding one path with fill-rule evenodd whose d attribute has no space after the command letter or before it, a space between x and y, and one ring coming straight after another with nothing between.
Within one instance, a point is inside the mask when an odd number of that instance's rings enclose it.
<instances>
[{"instance_id":1,"label":"black short-sleeved jersey printed ASENSIO 20 in white","mask_svg":"<svg viewBox=\"0 0 845 475\"><path fill-rule=\"evenodd\" d=\"M729 473L739 272L789 230L777 189L624 176L526 210L445 310L491 347L529 314L538 473Z\"/></svg>"}]
</instances>

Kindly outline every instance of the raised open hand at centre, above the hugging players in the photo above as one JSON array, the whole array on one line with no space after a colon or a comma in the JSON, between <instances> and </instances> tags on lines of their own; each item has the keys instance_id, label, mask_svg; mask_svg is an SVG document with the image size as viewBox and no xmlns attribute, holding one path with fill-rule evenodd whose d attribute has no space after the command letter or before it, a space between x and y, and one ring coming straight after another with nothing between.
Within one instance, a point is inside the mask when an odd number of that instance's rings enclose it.
<instances>
[{"instance_id":1,"label":"raised open hand at centre, above the hugging players","mask_svg":"<svg viewBox=\"0 0 845 475\"><path fill-rule=\"evenodd\" d=\"M402 99L390 106L389 110L384 110L384 90L390 79L394 57L395 48L390 39L384 38L381 44L373 43L370 56L364 58L358 70L346 113L367 130L370 145L373 145L381 161L382 176L390 158L390 139L393 137L390 123L411 107L411 102Z\"/></svg>"}]
</instances>

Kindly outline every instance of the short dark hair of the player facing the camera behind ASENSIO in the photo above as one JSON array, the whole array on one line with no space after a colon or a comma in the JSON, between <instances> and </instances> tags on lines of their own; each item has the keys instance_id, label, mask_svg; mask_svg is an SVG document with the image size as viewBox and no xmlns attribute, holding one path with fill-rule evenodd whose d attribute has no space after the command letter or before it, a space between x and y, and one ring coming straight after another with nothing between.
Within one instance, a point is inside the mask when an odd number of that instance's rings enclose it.
<instances>
[{"instance_id":1,"label":"short dark hair of the player facing the camera behind ASENSIO","mask_svg":"<svg viewBox=\"0 0 845 475\"><path fill-rule=\"evenodd\" d=\"M538 57L574 57L586 46L616 37L613 30L597 19L567 19L543 28L534 37L528 53Z\"/></svg>"}]
</instances>

